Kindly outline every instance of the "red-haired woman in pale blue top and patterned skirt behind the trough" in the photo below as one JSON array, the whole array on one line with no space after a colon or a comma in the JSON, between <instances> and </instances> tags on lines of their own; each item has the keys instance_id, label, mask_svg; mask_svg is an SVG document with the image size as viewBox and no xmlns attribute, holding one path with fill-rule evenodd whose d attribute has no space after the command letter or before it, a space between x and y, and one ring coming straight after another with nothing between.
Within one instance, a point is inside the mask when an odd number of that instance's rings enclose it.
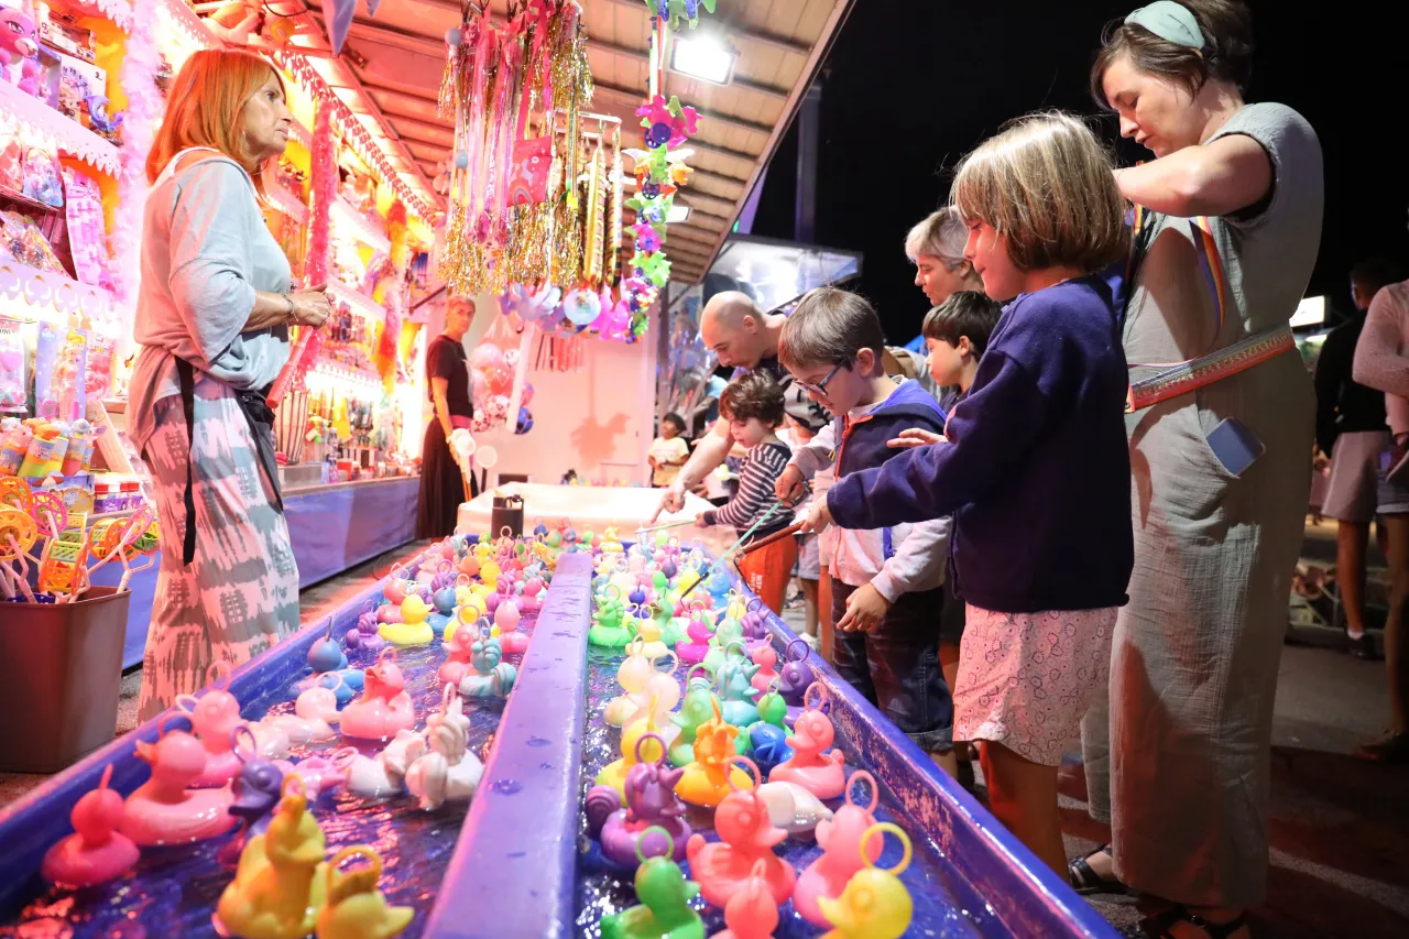
<instances>
[{"instance_id":1,"label":"red-haired woman in pale blue top and patterned skirt behind the trough","mask_svg":"<svg viewBox=\"0 0 1409 939\"><path fill-rule=\"evenodd\" d=\"M142 663L141 718L299 627L265 393L289 326L320 326L323 288L294 290L265 227L261 168L293 116L269 62L196 52L172 83L147 161L128 436L152 472L162 560Z\"/></svg>"}]
</instances>

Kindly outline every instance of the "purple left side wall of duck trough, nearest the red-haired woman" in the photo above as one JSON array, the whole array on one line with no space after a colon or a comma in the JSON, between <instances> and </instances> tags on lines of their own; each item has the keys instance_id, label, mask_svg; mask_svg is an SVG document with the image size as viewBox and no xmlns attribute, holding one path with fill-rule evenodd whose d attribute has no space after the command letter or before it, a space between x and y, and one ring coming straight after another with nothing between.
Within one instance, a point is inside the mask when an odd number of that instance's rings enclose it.
<instances>
[{"instance_id":1,"label":"purple left side wall of duck trough, nearest the red-haired woman","mask_svg":"<svg viewBox=\"0 0 1409 939\"><path fill-rule=\"evenodd\" d=\"M362 605L382 592L383 582L369 587L333 615L335 636L356 626ZM273 649L251 658L231 674L230 691L248 704L272 688L286 687L307 665L309 649L323 637L327 623L327 618L309 623ZM165 711L131 733L94 750L0 809L0 845L4 845L0 852L0 918L13 916L30 898L45 890L39 878L44 852L73 832L69 812L85 792L97 787L104 767L113 764L110 785L123 795L147 781L151 771L137 759L137 742L156 740L156 728L168 713L176 713L176 709Z\"/></svg>"}]
</instances>

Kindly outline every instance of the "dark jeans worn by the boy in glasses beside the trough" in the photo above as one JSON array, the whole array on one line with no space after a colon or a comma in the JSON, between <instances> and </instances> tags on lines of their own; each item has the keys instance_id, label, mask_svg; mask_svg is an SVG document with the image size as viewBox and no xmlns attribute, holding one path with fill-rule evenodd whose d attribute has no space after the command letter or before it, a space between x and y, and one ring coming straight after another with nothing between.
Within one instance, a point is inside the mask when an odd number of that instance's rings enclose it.
<instances>
[{"instance_id":1,"label":"dark jeans worn by the boy in glasses beside the trough","mask_svg":"<svg viewBox=\"0 0 1409 939\"><path fill-rule=\"evenodd\" d=\"M833 579L831 620L841 622L858 588ZM944 591L905 594L869 633L837 630L837 674L926 753L952 746L954 699L940 668Z\"/></svg>"}]
</instances>

